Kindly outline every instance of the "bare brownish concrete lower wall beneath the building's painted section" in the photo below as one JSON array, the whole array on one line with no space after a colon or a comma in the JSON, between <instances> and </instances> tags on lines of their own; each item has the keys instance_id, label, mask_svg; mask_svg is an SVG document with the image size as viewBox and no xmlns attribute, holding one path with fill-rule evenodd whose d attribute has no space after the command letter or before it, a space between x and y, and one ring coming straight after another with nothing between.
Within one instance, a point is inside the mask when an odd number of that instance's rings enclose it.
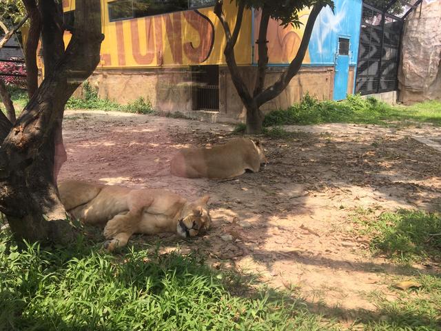
<instances>
[{"instance_id":1,"label":"bare brownish concrete lower wall beneath the building's painted section","mask_svg":"<svg viewBox=\"0 0 441 331\"><path fill-rule=\"evenodd\" d=\"M285 67L270 67L267 84L274 83ZM254 88L255 67L240 67L250 90ZM139 97L152 102L161 113L182 112L188 117L209 121L245 121L245 108L234 88L227 67L219 68L219 111L192 110L191 75L189 68L118 69L96 70L89 79L99 92L99 97L118 103L129 103ZM334 68L332 66L303 66L289 86L276 99L266 103L262 110L269 112L288 108L307 93L320 100L332 99ZM353 89L353 68L349 71L348 92ZM80 96L81 91L76 92Z\"/></svg>"}]
</instances>

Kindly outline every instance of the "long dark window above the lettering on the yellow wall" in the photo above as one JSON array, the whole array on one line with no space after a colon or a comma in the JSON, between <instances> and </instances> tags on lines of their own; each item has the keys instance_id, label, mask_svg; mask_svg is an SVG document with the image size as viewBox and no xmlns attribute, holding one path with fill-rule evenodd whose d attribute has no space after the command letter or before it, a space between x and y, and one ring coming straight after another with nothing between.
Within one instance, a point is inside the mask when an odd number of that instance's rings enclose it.
<instances>
[{"instance_id":1,"label":"long dark window above the lettering on the yellow wall","mask_svg":"<svg viewBox=\"0 0 441 331\"><path fill-rule=\"evenodd\" d=\"M136 19L191 8L214 6L214 0L115 0L108 4L110 21Z\"/></svg>"}]
</instances>

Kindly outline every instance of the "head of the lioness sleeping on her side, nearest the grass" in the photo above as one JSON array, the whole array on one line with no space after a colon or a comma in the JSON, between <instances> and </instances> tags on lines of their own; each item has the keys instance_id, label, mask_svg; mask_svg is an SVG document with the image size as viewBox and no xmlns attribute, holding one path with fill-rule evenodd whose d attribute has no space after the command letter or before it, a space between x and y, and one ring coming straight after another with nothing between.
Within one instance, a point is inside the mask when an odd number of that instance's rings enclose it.
<instances>
[{"instance_id":1,"label":"head of the lioness sleeping on her side, nearest the grass","mask_svg":"<svg viewBox=\"0 0 441 331\"><path fill-rule=\"evenodd\" d=\"M194 201L194 203L190 203L183 210L181 219L179 219L176 225L176 232L181 237L195 237L209 229L212 224L212 218L209 216L208 199L208 196L203 197Z\"/></svg>"}]
</instances>

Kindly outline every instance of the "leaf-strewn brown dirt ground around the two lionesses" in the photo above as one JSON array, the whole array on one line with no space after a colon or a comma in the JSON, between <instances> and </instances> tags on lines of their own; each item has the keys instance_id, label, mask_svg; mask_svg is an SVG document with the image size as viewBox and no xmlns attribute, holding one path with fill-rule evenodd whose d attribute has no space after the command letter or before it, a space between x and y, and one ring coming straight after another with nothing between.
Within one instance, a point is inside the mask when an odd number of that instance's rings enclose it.
<instances>
[{"instance_id":1,"label":"leaf-strewn brown dirt ground around the two lionesses","mask_svg":"<svg viewBox=\"0 0 441 331\"><path fill-rule=\"evenodd\" d=\"M259 138L265 169L220 181L174 177L169 161L178 148L226 141L232 126L100 111L68 111L63 126L68 161L60 179L211 195L212 230L192 241L161 235L162 250L202 250L215 266L258 272L271 286L296 288L311 305L341 308L348 319L376 310L367 293L389 292L386 280L406 274L367 253L369 241L353 231L351 215L441 203L441 152L411 139L441 136L429 126L292 126L292 138Z\"/></svg>"}]
</instances>

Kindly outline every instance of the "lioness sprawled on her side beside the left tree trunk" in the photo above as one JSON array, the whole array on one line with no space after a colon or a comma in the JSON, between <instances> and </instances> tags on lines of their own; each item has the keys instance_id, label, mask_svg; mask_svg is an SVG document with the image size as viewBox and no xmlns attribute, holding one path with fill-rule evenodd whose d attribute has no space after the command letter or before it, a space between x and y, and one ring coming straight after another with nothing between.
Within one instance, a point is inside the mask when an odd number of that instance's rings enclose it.
<instances>
[{"instance_id":1,"label":"lioness sprawled on her side beside the left tree trunk","mask_svg":"<svg viewBox=\"0 0 441 331\"><path fill-rule=\"evenodd\" d=\"M176 232L194 237L212 222L208 196L190 203L178 194L159 189L132 189L81 181L59 183L65 209L83 223L105 225L105 249L127 244L134 233Z\"/></svg>"}]
</instances>

